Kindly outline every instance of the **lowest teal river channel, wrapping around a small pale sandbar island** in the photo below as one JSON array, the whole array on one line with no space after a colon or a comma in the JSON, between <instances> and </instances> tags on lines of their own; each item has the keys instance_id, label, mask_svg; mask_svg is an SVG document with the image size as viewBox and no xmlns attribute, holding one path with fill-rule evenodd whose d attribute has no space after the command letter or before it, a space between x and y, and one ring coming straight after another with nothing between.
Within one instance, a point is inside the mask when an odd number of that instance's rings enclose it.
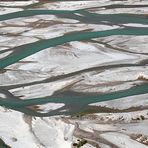
<instances>
[{"instance_id":1,"label":"lowest teal river channel, wrapping around a small pale sandbar island","mask_svg":"<svg viewBox=\"0 0 148 148\"><path fill-rule=\"evenodd\" d=\"M108 100L115 100L115 99L121 99L124 97L129 96L136 96L140 94L146 94L148 93L148 84L143 84L140 86L135 86L133 88L124 90L124 91L118 91L108 94L100 94L100 95L77 95L75 94L61 94L60 96L50 96L45 98L36 98L36 99L29 99L29 100L11 100L11 98L7 98L4 100L0 100L0 105L5 106L7 108L11 108L14 110L18 110L30 115L35 116L48 116L48 115L57 115L57 114L74 114L77 112L83 112L87 107L88 104L96 103L96 102L102 102L102 101L108 101ZM64 103L65 107L62 107L60 109L57 109L57 111L49 112L49 113L36 113L28 108L27 106L32 105L40 105L40 104L46 104L46 103ZM70 106L70 107L68 107ZM67 109L66 112L60 112L61 110Z\"/></svg>"}]
</instances>

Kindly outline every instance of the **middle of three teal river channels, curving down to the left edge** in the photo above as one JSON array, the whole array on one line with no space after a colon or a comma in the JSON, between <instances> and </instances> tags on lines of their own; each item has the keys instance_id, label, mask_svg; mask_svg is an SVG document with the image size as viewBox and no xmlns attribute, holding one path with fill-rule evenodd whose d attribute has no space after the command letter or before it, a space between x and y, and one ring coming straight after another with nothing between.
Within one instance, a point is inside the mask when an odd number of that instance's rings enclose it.
<instances>
[{"instance_id":1,"label":"middle of three teal river channels, curving down to the left edge","mask_svg":"<svg viewBox=\"0 0 148 148\"><path fill-rule=\"evenodd\" d=\"M56 37L53 39L38 41L36 43L28 44L26 48L23 49L22 51L19 51L19 53L11 54L8 57L0 60L0 69L3 69L11 64L16 63L19 60L22 60L32 54L35 54L49 47L54 47L70 41L89 40L92 38L107 37L111 35L148 35L148 29L142 28L137 30L137 28L132 28L132 29L128 28L128 29L113 29L113 30L97 31L97 32L84 32L81 34L73 33L61 37Z\"/></svg>"}]
</instances>

